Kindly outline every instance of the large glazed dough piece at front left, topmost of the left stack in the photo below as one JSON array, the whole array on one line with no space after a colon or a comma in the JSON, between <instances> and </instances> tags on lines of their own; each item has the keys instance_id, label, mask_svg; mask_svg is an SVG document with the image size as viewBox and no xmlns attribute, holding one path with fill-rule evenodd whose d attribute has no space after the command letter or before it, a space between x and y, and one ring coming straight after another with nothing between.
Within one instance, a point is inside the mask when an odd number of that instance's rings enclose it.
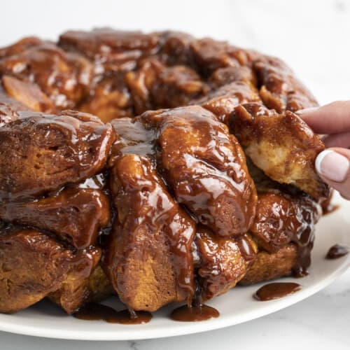
<instances>
[{"instance_id":1,"label":"large glazed dough piece at front left, topmost of the left stack","mask_svg":"<svg viewBox=\"0 0 350 350\"><path fill-rule=\"evenodd\" d=\"M0 197L41 195L99 172L113 142L111 125L74 111L18 112L0 128Z\"/></svg>"}]
</instances>

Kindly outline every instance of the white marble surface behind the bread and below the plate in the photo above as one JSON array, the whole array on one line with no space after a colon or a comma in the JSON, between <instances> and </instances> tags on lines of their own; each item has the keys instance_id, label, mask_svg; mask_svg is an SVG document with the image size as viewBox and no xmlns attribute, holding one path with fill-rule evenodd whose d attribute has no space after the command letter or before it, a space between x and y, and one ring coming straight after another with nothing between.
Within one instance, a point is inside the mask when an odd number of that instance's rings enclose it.
<instances>
[{"instance_id":1,"label":"white marble surface behind the bread and below the plate","mask_svg":"<svg viewBox=\"0 0 350 350\"><path fill-rule=\"evenodd\" d=\"M322 104L350 99L350 1L6 1L0 45L65 29L179 29L251 47L288 62ZM350 235L350 232L349 232ZM137 342L73 342L0 332L2 350L350 348L350 270L293 307L235 327Z\"/></svg>"}]
</instances>

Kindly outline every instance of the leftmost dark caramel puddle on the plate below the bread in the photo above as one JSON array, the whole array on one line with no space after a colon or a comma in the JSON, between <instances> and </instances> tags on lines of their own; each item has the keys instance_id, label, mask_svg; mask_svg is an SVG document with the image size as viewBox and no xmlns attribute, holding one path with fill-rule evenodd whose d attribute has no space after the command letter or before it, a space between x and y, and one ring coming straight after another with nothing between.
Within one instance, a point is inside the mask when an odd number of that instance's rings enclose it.
<instances>
[{"instance_id":1,"label":"leftmost dark caramel puddle on the plate below the bread","mask_svg":"<svg viewBox=\"0 0 350 350\"><path fill-rule=\"evenodd\" d=\"M152 314L147 311L121 310L116 311L97 302L90 302L81 307L75 314L75 318L87 321L106 321L108 323L120 323L123 325L137 325L151 321Z\"/></svg>"}]
</instances>

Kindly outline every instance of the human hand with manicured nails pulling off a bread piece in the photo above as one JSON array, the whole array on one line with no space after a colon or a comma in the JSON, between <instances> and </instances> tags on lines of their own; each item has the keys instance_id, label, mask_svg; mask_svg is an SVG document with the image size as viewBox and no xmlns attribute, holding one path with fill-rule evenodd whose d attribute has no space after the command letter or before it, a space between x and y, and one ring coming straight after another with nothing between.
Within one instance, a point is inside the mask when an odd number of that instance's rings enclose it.
<instances>
[{"instance_id":1,"label":"human hand with manicured nails pulling off a bread piece","mask_svg":"<svg viewBox=\"0 0 350 350\"><path fill-rule=\"evenodd\" d=\"M321 152L315 167L323 181L350 200L350 101L298 111L297 114L317 134L325 134L327 149Z\"/></svg>"}]
</instances>

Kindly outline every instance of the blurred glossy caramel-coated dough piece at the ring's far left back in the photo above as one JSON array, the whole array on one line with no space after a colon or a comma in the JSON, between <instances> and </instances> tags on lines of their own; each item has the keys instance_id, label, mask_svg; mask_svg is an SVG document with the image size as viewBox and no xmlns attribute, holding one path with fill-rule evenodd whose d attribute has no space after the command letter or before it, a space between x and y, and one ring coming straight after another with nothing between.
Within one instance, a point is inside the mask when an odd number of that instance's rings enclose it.
<instances>
[{"instance_id":1,"label":"blurred glossy caramel-coated dough piece at the ring's far left back","mask_svg":"<svg viewBox=\"0 0 350 350\"><path fill-rule=\"evenodd\" d=\"M92 79L92 64L87 59L48 41L16 45L17 50L7 50L13 55L0 58L0 75L36 83L60 109L73 108L86 94Z\"/></svg>"}]
</instances>

